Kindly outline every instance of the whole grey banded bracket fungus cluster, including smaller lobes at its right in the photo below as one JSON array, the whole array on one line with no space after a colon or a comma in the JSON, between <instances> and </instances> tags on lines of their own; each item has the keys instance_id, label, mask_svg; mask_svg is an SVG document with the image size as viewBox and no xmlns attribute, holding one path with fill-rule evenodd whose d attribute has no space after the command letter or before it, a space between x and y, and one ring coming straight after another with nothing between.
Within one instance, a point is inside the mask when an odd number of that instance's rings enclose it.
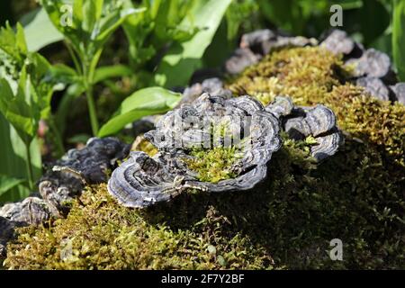
<instances>
[{"instance_id":1,"label":"whole grey banded bracket fungus cluster, including smaller lobes at its right","mask_svg":"<svg viewBox=\"0 0 405 288\"><path fill-rule=\"evenodd\" d=\"M311 154L318 160L333 155L341 142L335 114L323 105L294 107L289 97L279 96L264 107L247 95L204 93L157 121L156 129L145 134L157 154L131 152L112 172L108 190L122 205L141 208L188 188L252 189L266 178L267 164L282 145L282 128L293 139L313 136L318 145ZM225 173L210 175L215 166Z\"/></svg>"}]
</instances>

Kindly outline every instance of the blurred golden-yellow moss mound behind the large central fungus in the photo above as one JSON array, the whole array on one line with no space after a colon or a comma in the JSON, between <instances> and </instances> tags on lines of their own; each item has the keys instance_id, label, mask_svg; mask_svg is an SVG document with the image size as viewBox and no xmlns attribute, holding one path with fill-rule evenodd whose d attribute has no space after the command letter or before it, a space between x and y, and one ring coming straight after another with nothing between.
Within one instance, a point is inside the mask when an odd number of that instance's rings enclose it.
<instances>
[{"instance_id":1,"label":"blurred golden-yellow moss mound behind the large central fungus","mask_svg":"<svg viewBox=\"0 0 405 288\"><path fill-rule=\"evenodd\" d=\"M229 89L236 94L256 96L264 104L270 103L278 94L294 97L297 104L313 104L333 86L339 85L339 77L348 73L341 58L327 49L280 49L266 56L257 66L248 67Z\"/></svg>"}]
</instances>

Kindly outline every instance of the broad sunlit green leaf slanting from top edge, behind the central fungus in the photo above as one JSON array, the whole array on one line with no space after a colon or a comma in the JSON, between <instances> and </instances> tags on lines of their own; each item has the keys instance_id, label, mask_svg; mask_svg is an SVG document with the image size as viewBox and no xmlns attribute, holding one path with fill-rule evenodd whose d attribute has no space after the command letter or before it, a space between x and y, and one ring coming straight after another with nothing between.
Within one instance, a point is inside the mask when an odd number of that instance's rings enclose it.
<instances>
[{"instance_id":1,"label":"broad sunlit green leaf slanting from top edge, behind the central fungus","mask_svg":"<svg viewBox=\"0 0 405 288\"><path fill-rule=\"evenodd\" d=\"M231 0L198 1L190 12L190 17L200 31L191 40L169 49L157 68L158 85L185 85L195 69L202 67L202 55L210 45L230 2ZM184 19L181 25L189 26L190 19Z\"/></svg>"}]
</instances>

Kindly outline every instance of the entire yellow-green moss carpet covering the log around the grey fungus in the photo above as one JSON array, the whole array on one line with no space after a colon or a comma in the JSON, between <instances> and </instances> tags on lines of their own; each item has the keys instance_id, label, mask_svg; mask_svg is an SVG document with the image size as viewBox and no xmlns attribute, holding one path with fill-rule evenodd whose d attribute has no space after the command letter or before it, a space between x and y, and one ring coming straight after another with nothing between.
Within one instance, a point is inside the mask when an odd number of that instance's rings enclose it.
<instances>
[{"instance_id":1,"label":"entire yellow-green moss carpet covering the log around the grey fungus","mask_svg":"<svg viewBox=\"0 0 405 288\"><path fill-rule=\"evenodd\" d=\"M183 193L144 211L123 208L104 184L94 186L66 220L19 229L5 266L405 268L405 108L346 84L338 60L316 48L280 50L230 85L266 94L266 79L276 77L295 103L331 107L346 130L334 157L318 164L309 153L311 139L284 135L266 182L254 191ZM253 76L257 82L250 85ZM343 241L343 261L329 258L333 238Z\"/></svg>"}]
</instances>

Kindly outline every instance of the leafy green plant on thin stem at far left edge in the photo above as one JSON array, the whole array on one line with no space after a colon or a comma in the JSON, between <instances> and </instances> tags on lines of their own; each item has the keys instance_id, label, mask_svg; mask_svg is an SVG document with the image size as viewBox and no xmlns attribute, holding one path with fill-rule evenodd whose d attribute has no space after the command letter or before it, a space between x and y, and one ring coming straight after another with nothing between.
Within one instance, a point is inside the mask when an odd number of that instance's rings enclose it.
<instances>
[{"instance_id":1,"label":"leafy green plant on thin stem at far left edge","mask_svg":"<svg viewBox=\"0 0 405 288\"><path fill-rule=\"evenodd\" d=\"M0 56L0 112L23 142L28 187L32 191L36 173L31 159L40 157L40 149L36 145L35 155L31 155L31 144L36 138L40 119L50 118L50 97L53 93L53 84L48 80L50 65L40 54L28 51L20 24L17 24L15 33L8 24L1 28ZM3 127L3 133L8 133L4 135L4 141L15 141L11 139L7 125ZM10 153L9 149L5 150L5 153ZM6 172L9 177L13 174Z\"/></svg>"}]
</instances>

